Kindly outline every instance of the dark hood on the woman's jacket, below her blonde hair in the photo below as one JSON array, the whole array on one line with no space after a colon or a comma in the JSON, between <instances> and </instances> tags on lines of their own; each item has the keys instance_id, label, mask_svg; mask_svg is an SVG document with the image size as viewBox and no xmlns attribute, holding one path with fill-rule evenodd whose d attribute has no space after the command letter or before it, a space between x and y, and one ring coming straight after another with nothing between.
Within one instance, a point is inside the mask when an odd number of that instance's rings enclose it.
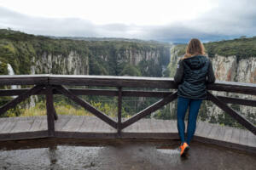
<instances>
[{"instance_id":1,"label":"dark hood on the woman's jacket, below her blonde hair","mask_svg":"<svg viewBox=\"0 0 256 170\"><path fill-rule=\"evenodd\" d=\"M201 69L207 62L206 57L201 55L195 55L188 59L184 59L184 63L189 66L191 70Z\"/></svg>"}]
</instances>

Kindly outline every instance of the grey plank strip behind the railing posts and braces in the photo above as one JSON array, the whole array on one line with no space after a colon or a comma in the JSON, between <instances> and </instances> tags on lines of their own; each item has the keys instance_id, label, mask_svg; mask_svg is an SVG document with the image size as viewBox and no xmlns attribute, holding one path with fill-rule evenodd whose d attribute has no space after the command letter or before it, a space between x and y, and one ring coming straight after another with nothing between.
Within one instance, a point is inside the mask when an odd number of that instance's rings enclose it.
<instances>
[{"instance_id":1,"label":"grey plank strip behind the railing posts and braces","mask_svg":"<svg viewBox=\"0 0 256 170\"><path fill-rule=\"evenodd\" d=\"M0 140L47 138L46 116L0 119ZM177 122L141 119L120 134L96 116L59 115L56 138L78 139L178 139ZM256 153L256 135L248 130L197 122L194 140Z\"/></svg>"}]
</instances>

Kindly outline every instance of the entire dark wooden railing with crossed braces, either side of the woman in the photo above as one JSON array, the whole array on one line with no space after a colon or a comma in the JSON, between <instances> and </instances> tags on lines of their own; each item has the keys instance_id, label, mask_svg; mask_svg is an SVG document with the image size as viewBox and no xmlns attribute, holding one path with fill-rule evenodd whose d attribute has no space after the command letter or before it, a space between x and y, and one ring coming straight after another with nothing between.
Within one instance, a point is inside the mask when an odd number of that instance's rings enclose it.
<instances>
[{"instance_id":1,"label":"entire dark wooden railing with crossed braces, either side of the woman","mask_svg":"<svg viewBox=\"0 0 256 170\"><path fill-rule=\"evenodd\" d=\"M113 77L113 76L61 76L61 75L20 75L20 76L0 76L0 86L6 85L33 85L30 89L1 89L0 96L18 96L9 101L9 103L1 106L0 115L11 108L14 108L21 101L27 99L31 95L46 95L48 134L55 136L55 120L58 119L54 107L54 94L63 94L67 98L72 99L75 103L84 107L85 110L108 123L111 127L117 129L117 133L137 122L141 118L148 116L157 111L162 106L169 104L177 99L177 92L170 91L150 91L150 90L124 90L123 88L158 88L158 89L177 89L177 84L172 78L157 77ZM92 87L115 87L117 89L91 89L91 88L66 88L69 86L92 86ZM215 82L208 85L207 90L224 91L238 94L256 95L256 84L241 82ZM80 99L77 95L105 95L118 97L118 119L117 122L112 117L97 110L84 99ZM153 105L148 106L143 111L139 111L134 116L122 122L121 108L122 98L132 97L154 97L162 98ZM240 113L234 111L227 104L256 106L256 100L238 99L225 96L214 96L207 91L207 99L211 100L220 109L228 113L237 122L241 123L249 131L256 134L256 127L252 122L247 121ZM256 114L256 113L255 113Z\"/></svg>"}]
</instances>

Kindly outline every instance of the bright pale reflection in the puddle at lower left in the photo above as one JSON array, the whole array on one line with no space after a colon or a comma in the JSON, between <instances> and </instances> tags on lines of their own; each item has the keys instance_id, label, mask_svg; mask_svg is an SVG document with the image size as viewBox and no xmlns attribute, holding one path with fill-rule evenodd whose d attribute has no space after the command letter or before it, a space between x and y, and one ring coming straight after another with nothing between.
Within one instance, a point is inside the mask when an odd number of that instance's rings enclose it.
<instances>
[{"instance_id":1,"label":"bright pale reflection in the puddle at lower left","mask_svg":"<svg viewBox=\"0 0 256 170\"><path fill-rule=\"evenodd\" d=\"M102 147L56 146L0 150L0 169L73 169L95 166Z\"/></svg>"}]
</instances>

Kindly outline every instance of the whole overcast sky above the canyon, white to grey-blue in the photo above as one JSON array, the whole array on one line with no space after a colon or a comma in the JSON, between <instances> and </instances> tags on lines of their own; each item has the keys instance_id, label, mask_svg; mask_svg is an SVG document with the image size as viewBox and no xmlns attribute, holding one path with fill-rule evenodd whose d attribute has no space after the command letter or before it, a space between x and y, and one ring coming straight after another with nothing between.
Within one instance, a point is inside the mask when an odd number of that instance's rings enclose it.
<instances>
[{"instance_id":1,"label":"whole overcast sky above the canyon, white to grey-blue","mask_svg":"<svg viewBox=\"0 0 256 170\"><path fill-rule=\"evenodd\" d=\"M256 0L0 0L0 28L61 37L218 41L256 36Z\"/></svg>"}]
</instances>

